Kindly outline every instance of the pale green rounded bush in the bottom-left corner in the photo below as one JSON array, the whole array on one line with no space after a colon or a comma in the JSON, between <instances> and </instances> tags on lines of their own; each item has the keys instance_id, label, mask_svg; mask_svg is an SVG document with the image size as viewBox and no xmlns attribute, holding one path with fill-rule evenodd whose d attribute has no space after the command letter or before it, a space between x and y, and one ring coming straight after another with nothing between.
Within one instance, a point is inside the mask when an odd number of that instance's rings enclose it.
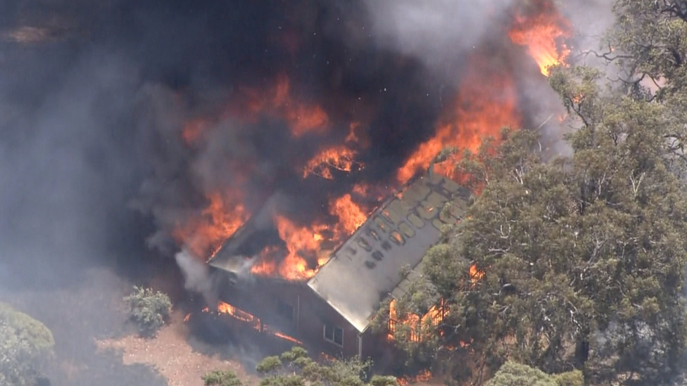
<instances>
[{"instance_id":1,"label":"pale green rounded bush in the bottom-left corner","mask_svg":"<svg viewBox=\"0 0 687 386\"><path fill-rule=\"evenodd\" d=\"M43 323L0 303L0 385L34 385L54 345Z\"/></svg>"}]
</instances>

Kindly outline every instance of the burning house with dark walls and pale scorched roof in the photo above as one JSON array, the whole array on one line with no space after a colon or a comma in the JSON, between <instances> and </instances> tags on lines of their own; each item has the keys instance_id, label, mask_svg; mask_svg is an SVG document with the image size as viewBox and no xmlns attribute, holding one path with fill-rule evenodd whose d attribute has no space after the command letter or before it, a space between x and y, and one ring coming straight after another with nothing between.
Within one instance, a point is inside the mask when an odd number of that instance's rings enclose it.
<instances>
[{"instance_id":1,"label":"burning house with dark walls and pale scorched roof","mask_svg":"<svg viewBox=\"0 0 687 386\"><path fill-rule=\"evenodd\" d=\"M370 328L377 310L384 300L405 294L415 273L404 278L402 269L422 263L442 227L459 221L468 195L436 174L412 179L303 280L251 274L251 267L273 258L272 248L251 249L266 243L274 230L248 221L210 260L225 279L220 307L227 304L239 321L319 352L375 356L387 339Z\"/></svg>"}]
</instances>

